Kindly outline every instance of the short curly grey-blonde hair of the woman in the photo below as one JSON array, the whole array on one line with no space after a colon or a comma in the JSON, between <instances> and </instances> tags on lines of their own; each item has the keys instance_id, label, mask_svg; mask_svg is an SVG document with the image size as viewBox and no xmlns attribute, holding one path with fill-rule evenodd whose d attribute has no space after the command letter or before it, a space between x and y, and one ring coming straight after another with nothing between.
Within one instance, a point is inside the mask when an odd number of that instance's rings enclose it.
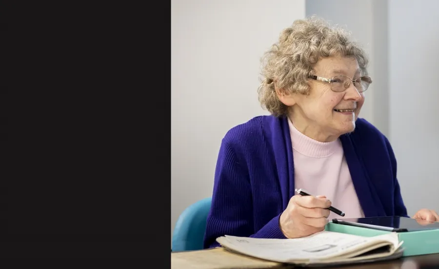
<instances>
[{"instance_id":1,"label":"short curly grey-blonde hair of the woman","mask_svg":"<svg viewBox=\"0 0 439 269\"><path fill-rule=\"evenodd\" d=\"M294 21L262 57L263 79L258 88L262 107L274 116L285 115L288 107L279 101L276 87L287 93L309 94L308 76L313 74L313 67L323 57L355 57L361 74L367 75L366 52L350 38L347 30L331 27L315 16Z\"/></svg>"}]
</instances>

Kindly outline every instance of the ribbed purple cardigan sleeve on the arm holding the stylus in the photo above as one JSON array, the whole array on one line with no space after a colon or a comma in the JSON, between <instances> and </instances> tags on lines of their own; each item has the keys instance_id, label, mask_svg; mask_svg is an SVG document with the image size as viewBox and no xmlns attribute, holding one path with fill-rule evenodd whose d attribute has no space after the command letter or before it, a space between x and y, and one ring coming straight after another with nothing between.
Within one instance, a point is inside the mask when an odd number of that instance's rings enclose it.
<instances>
[{"instance_id":1,"label":"ribbed purple cardigan sleeve on the arm holding the stylus","mask_svg":"<svg viewBox=\"0 0 439 269\"><path fill-rule=\"evenodd\" d=\"M258 231L254 230L252 199L252 186L245 160L238 158L233 146L223 140L215 170L204 248L220 246L216 239L223 235L285 238L279 228L280 215Z\"/></svg>"}]
</instances>

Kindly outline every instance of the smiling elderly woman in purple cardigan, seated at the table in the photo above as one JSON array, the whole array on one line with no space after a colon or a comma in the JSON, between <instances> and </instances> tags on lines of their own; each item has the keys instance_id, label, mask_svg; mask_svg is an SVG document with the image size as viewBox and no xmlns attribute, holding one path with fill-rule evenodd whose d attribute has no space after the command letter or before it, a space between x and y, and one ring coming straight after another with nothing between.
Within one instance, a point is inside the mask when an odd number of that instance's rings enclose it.
<instances>
[{"instance_id":1,"label":"smiling elderly woman in purple cardigan, seated at the table","mask_svg":"<svg viewBox=\"0 0 439 269\"><path fill-rule=\"evenodd\" d=\"M364 50L324 21L295 21L266 53L259 100L271 113L222 140L204 247L222 235L297 238L328 219L407 216L387 138L358 118L367 76ZM295 195L304 188L319 196ZM415 218L439 221L433 210Z\"/></svg>"}]
</instances>

